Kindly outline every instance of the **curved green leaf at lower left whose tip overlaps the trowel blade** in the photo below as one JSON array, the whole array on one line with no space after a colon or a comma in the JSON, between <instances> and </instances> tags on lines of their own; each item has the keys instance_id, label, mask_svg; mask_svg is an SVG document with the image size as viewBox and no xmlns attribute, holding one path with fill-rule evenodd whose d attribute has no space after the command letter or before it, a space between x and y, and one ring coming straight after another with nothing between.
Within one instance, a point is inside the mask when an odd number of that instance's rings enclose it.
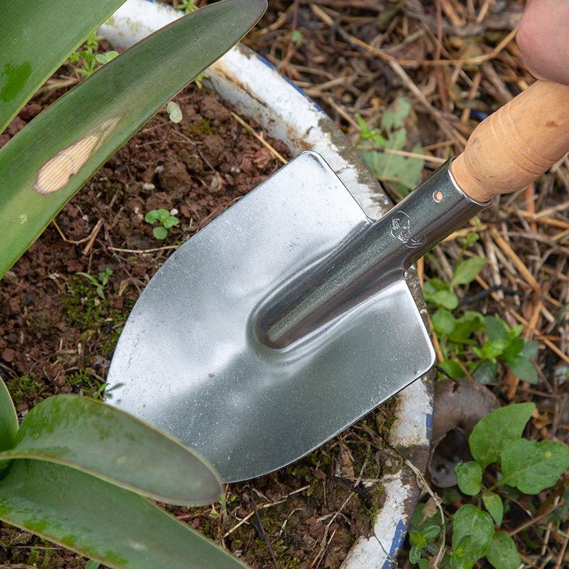
<instances>
[{"instance_id":1,"label":"curved green leaf at lower left whose tip overlaps the trowel blade","mask_svg":"<svg viewBox=\"0 0 569 569\"><path fill-rule=\"evenodd\" d=\"M100 401L55 395L23 420L12 450L0 459L65 464L170 504L218 499L218 477L203 459L169 435Z\"/></svg>"}]
</instances>

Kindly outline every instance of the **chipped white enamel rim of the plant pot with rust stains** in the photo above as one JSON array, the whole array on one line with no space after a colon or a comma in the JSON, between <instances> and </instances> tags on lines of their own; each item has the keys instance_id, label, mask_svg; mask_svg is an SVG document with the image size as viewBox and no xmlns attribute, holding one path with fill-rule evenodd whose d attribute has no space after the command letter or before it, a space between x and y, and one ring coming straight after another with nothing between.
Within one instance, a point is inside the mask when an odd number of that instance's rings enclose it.
<instances>
[{"instance_id":1,"label":"chipped white enamel rim of the plant pot with rust stains","mask_svg":"<svg viewBox=\"0 0 569 569\"><path fill-rule=\"evenodd\" d=\"M127 0L100 28L115 46L127 48L165 26L181 12L151 0ZM243 115L253 117L266 132L282 140L293 154L319 152L371 218L381 216L390 202L356 151L324 112L270 63L243 46L236 46L208 70L211 86ZM398 418L390 444L404 454L430 445L432 398L424 381L398 395ZM388 569L395 566L418 490L406 468L381 482L385 501L373 526L373 536L358 538L341 569Z\"/></svg>"}]
</instances>

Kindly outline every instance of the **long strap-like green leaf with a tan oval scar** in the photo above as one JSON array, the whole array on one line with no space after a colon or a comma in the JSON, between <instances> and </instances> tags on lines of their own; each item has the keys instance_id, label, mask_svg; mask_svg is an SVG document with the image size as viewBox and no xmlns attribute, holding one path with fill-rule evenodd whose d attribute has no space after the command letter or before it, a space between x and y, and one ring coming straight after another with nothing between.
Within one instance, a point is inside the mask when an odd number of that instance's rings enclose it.
<instances>
[{"instance_id":1,"label":"long strap-like green leaf with a tan oval scar","mask_svg":"<svg viewBox=\"0 0 569 569\"><path fill-rule=\"evenodd\" d=\"M108 157L239 41L266 6L222 0L174 21L103 65L0 149L0 277Z\"/></svg>"}]
</instances>

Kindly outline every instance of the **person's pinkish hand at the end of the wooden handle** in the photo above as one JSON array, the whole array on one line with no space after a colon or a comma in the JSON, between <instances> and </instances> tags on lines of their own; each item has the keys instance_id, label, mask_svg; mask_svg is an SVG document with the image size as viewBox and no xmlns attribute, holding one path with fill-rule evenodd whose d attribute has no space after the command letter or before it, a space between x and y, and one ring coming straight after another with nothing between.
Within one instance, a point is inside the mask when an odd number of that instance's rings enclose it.
<instances>
[{"instance_id":1,"label":"person's pinkish hand at the end of the wooden handle","mask_svg":"<svg viewBox=\"0 0 569 569\"><path fill-rule=\"evenodd\" d=\"M533 75L569 85L569 0L530 0L516 39Z\"/></svg>"}]
</instances>

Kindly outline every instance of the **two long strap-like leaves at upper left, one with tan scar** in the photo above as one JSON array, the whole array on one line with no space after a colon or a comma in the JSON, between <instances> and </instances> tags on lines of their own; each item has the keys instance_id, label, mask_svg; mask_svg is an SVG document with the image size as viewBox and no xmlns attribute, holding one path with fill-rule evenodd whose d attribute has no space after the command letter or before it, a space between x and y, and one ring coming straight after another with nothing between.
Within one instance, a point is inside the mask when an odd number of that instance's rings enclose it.
<instances>
[{"instance_id":1,"label":"two long strap-like leaves at upper left, one with tan scar","mask_svg":"<svg viewBox=\"0 0 569 569\"><path fill-rule=\"evenodd\" d=\"M48 2L4 2L0 132L123 1L60 0L57 10ZM222 0L104 58L108 63L90 68L0 149L0 278L90 176L237 43L266 6L266 0Z\"/></svg>"}]
</instances>

